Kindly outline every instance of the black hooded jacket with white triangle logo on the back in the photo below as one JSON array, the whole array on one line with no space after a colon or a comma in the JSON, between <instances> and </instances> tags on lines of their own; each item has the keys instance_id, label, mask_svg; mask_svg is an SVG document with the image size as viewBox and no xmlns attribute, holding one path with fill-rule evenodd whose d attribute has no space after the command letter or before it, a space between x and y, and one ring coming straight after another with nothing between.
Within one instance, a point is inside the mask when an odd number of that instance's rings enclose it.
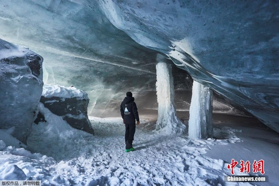
<instances>
[{"instance_id":1,"label":"black hooded jacket with white triangle logo on the back","mask_svg":"<svg viewBox=\"0 0 279 186\"><path fill-rule=\"evenodd\" d=\"M140 121L137 105L134 97L125 97L120 105L120 112L125 124L134 124Z\"/></svg>"}]
</instances>

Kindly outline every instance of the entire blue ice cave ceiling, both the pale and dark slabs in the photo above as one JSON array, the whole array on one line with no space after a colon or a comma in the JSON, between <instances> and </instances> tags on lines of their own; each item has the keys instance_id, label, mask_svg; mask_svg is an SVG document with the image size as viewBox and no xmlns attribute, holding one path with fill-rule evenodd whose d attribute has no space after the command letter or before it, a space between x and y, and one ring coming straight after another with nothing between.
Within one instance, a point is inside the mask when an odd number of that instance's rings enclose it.
<instances>
[{"instance_id":1,"label":"entire blue ice cave ceiling, both the pale and dark slabs","mask_svg":"<svg viewBox=\"0 0 279 186\"><path fill-rule=\"evenodd\" d=\"M0 37L44 56L47 83L88 91L89 113L118 108L125 91L155 91L156 50L279 131L277 1L11 0L0 8Z\"/></svg>"}]
</instances>

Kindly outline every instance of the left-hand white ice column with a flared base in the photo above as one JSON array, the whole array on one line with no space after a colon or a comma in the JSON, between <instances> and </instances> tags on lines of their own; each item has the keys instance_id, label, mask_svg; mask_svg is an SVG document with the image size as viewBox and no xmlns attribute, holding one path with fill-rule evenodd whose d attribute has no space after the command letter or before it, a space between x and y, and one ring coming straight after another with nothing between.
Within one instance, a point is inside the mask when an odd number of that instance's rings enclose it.
<instances>
[{"instance_id":1,"label":"left-hand white ice column with a flared base","mask_svg":"<svg viewBox=\"0 0 279 186\"><path fill-rule=\"evenodd\" d=\"M177 118L174 108L174 87L171 64L162 58L156 65L158 120L156 130L166 134L179 134L185 131L185 125Z\"/></svg>"}]
</instances>

